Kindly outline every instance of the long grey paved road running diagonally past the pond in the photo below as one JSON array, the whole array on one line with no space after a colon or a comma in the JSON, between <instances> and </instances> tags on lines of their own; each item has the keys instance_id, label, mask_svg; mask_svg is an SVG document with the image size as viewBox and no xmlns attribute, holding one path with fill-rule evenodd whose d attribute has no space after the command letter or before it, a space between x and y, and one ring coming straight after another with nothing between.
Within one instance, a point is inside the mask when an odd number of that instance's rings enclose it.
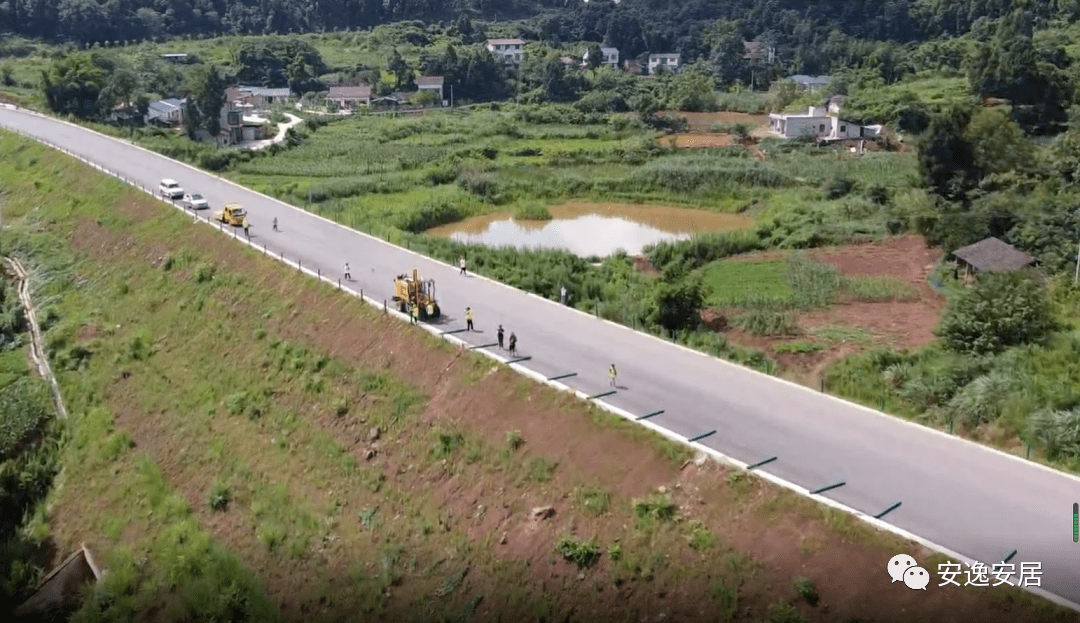
<instances>
[{"instance_id":1,"label":"long grey paved road running diagonally past the pond","mask_svg":"<svg viewBox=\"0 0 1080 623\"><path fill-rule=\"evenodd\" d=\"M147 188L175 178L203 193L213 209L240 202L251 213L254 242L332 276L348 261L355 279L348 287L365 294L389 298L393 276L416 267L435 280L446 328L462 327L463 310L472 306L480 330L458 337L489 343L501 323L508 336L517 334L521 354L532 357L525 365L548 377L577 373L563 382L591 394L609 389L607 367L615 363L624 387L605 398L610 404L639 415L663 409L651 421L690 437L715 430L701 443L748 463L778 457L762 470L811 490L842 480L846 486L824 496L866 514L902 502L885 520L971 559L991 565L1016 550L1010 563L1017 570L1020 563L1041 563L1042 588L1080 602L1080 544L1071 540L1078 478L461 276L454 267L119 140L3 107L0 125L44 138ZM271 231L274 217L279 233ZM929 571L933 591L941 579L936 569ZM882 560L882 588L889 582Z\"/></svg>"}]
</instances>

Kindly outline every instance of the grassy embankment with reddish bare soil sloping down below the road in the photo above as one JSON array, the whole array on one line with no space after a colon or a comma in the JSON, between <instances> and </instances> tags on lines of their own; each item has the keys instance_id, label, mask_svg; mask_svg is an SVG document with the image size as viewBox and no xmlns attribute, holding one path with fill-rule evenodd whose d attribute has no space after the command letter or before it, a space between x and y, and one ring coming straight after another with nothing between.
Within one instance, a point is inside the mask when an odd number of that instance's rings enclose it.
<instances>
[{"instance_id":1,"label":"grassy embankment with reddish bare soil sloping down below the road","mask_svg":"<svg viewBox=\"0 0 1080 623\"><path fill-rule=\"evenodd\" d=\"M70 411L19 538L108 568L78 621L1075 620L894 590L896 551L939 559L0 148Z\"/></svg>"}]
</instances>

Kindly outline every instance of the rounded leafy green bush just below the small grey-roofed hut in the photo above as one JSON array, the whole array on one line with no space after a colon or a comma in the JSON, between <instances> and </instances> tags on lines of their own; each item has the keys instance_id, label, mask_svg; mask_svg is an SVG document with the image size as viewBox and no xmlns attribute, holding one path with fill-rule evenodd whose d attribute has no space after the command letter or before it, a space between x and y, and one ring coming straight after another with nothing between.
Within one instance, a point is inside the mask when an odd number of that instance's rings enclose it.
<instances>
[{"instance_id":1,"label":"rounded leafy green bush just below the small grey-roofed hut","mask_svg":"<svg viewBox=\"0 0 1080 623\"><path fill-rule=\"evenodd\" d=\"M1039 343L1054 328L1045 286L1034 272L1021 271L980 274L946 310L936 333L950 351L985 354Z\"/></svg>"}]
</instances>

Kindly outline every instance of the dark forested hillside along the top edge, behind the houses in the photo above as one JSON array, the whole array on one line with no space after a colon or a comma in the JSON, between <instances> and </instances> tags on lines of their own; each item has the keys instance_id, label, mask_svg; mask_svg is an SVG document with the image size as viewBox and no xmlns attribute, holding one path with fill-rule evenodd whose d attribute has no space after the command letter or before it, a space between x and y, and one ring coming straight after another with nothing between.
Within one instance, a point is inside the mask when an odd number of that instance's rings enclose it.
<instances>
[{"instance_id":1,"label":"dark forested hillside along the top edge, behind the houses","mask_svg":"<svg viewBox=\"0 0 1080 623\"><path fill-rule=\"evenodd\" d=\"M1023 8L1037 22L1074 22L1080 0L2 0L0 33L77 43L168 36L286 33L389 22L528 19L524 36L604 41L696 57L701 30L737 19L742 35L793 49L838 36L907 42L967 32Z\"/></svg>"}]
</instances>

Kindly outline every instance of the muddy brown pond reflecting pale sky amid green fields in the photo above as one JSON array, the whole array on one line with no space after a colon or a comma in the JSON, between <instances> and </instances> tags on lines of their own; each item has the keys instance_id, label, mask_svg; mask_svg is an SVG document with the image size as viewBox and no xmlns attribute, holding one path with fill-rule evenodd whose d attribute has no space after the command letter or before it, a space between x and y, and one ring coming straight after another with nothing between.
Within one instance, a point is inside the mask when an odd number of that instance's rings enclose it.
<instances>
[{"instance_id":1,"label":"muddy brown pond reflecting pale sky amid green fields","mask_svg":"<svg viewBox=\"0 0 1080 623\"><path fill-rule=\"evenodd\" d=\"M431 235L518 248L561 248L580 257L606 257L619 249L640 255L663 241L692 233L744 229L750 217L661 205L567 203L548 208L551 220L515 220L511 213L488 214L428 230Z\"/></svg>"}]
</instances>

